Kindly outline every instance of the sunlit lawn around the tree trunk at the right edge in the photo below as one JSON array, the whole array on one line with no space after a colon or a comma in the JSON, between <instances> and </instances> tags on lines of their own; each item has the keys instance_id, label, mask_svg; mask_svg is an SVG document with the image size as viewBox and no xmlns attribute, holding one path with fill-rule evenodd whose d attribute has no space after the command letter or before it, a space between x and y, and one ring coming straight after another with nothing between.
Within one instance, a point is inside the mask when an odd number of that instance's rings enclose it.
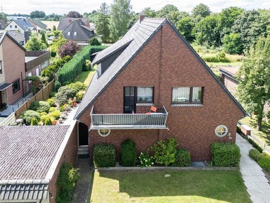
<instances>
[{"instance_id":1,"label":"sunlit lawn around the tree trunk at the right edge","mask_svg":"<svg viewBox=\"0 0 270 203\"><path fill-rule=\"evenodd\" d=\"M257 130L256 117L245 117L240 120L244 125L251 127L251 134L254 136L262 145L266 143L265 147L270 151L270 124L262 121L261 131Z\"/></svg>"}]
</instances>

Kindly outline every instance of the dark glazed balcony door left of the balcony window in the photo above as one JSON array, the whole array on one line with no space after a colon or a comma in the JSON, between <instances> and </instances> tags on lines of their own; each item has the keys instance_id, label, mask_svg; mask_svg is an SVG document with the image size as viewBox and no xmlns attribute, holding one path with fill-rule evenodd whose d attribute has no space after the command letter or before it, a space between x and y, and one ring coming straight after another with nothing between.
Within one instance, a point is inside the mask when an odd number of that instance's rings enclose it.
<instances>
[{"instance_id":1,"label":"dark glazed balcony door left of the balcony window","mask_svg":"<svg viewBox=\"0 0 270 203\"><path fill-rule=\"evenodd\" d=\"M136 113L135 87L124 87L124 114Z\"/></svg>"}]
</instances>

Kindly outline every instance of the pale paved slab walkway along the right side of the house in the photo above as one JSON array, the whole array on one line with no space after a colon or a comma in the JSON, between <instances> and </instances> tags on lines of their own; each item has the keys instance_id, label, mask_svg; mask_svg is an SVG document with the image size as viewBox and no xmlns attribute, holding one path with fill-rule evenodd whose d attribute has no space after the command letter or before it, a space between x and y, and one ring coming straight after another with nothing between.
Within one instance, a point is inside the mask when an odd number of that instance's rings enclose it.
<instances>
[{"instance_id":1,"label":"pale paved slab walkway along the right side of the house","mask_svg":"<svg viewBox=\"0 0 270 203\"><path fill-rule=\"evenodd\" d=\"M236 136L236 144L241 150L240 172L242 174L250 199L253 203L270 203L270 185L262 172L262 168L249 157L249 150L255 149L239 134Z\"/></svg>"}]
</instances>

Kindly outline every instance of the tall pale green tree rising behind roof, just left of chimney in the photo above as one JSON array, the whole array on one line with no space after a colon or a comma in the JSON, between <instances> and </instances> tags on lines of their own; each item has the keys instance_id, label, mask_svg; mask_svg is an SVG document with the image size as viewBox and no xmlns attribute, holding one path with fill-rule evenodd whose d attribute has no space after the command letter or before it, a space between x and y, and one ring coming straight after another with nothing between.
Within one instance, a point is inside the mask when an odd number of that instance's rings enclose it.
<instances>
[{"instance_id":1,"label":"tall pale green tree rising behind roof, just left of chimney","mask_svg":"<svg viewBox=\"0 0 270 203\"><path fill-rule=\"evenodd\" d=\"M109 29L112 41L119 40L127 32L132 6L130 0L114 0L111 5Z\"/></svg>"}]
</instances>

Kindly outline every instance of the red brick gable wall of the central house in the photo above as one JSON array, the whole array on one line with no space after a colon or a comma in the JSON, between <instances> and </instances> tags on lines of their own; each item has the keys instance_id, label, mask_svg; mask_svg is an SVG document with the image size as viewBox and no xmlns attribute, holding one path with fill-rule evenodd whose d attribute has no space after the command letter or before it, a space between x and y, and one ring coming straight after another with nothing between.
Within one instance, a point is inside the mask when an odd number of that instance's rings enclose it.
<instances>
[{"instance_id":1,"label":"red brick gable wall of the central house","mask_svg":"<svg viewBox=\"0 0 270 203\"><path fill-rule=\"evenodd\" d=\"M211 143L228 141L227 136L215 136L214 130L220 124L228 127L235 141L237 120L243 113L168 23L94 101L95 113L123 113L123 87L142 85L155 86L155 106L158 110L162 106L167 109L169 130L111 130L106 138L100 137L97 130L90 130L90 156L96 143L114 144L119 155L120 144L128 138L136 143L139 153L159 139L175 137L180 147L190 151L192 160L209 160ZM204 87L204 106L171 106L172 87L175 86ZM92 106L79 119L88 126L91 123L91 108ZM137 106L136 113L145 113L149 108Z\"/></svg>"}]
</instances>

